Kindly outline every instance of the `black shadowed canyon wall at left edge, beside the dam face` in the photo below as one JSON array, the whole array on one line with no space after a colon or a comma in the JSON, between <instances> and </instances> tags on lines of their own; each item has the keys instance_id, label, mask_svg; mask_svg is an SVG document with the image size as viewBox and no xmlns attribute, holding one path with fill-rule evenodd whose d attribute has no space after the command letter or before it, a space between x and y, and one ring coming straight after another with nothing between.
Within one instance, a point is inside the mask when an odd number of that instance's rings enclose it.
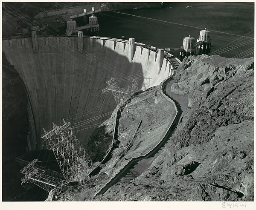
<instances>
[{"instance_id":1,"label":"black shadowed canyon wall at left edge, beside the dam face","mask_svg":"<svg viewBox=\"0 0 256 210\"><path fill-rule=\"evenodd\" d=\"M26 152L29 129L26 88L17 71L2 53L3 164ZM4 167L3 167L4 169Z\"/></svg>"}]
</instances>

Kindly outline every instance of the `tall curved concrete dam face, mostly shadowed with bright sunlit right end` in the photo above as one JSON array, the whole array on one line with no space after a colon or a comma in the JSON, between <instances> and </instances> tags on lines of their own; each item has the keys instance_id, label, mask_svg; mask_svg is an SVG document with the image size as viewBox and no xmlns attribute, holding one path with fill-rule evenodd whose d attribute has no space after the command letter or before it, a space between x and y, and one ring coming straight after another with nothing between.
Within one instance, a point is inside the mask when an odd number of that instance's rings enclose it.
<instances>
[{"instance_id":1,"label":"tall curved concrete dam face, mostly shadowed with bright sunlit right end","mask_svg":"<svg viewBox=\"0 0 256 210\"><path fill-rule=\"evenodd\" d=\"M19 73L29 97L29 150L41 149L43 128L64 118L79 141L110 115L116 103L111 92L102 93L106 81L116 78L122 88L139 78L139 89L160 84L173 74L163 53L146 49L132 40L106 37L32 37L3 40L3 52ZM162 51L163 52L163 51ZM94 118L94 121L90 119ZM80 122L84 122L81 127ZM90 127L90 128L88 128Z\"/></svg>"}]
</instances>

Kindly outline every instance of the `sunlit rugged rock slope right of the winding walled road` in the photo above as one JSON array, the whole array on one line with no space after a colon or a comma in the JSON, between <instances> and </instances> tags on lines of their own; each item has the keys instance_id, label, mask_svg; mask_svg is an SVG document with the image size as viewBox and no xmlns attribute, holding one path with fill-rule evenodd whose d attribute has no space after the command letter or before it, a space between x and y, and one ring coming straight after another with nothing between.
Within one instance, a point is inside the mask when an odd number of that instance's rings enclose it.
<instances>
[{"instance_id":1,"label":"sunlit rugged rock slope right of the winding walled road","mask_svg":"<svg viewBox=\"0 0 256 210\"><path fill-rule=\"evenodd\" d=\"M95 200L254 201L254 61L189 56L172 92L189 107L151 167Z\"/></svg>"}]
</instances>

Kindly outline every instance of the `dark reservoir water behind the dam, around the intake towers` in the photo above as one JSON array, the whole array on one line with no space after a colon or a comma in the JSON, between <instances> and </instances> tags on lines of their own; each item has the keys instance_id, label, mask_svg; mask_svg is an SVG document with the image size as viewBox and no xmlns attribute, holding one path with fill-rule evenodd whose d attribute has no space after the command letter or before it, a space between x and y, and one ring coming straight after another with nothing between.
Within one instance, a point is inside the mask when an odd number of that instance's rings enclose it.
<instances>
[{"instance_id":1,"label":"dark reservoir water behind the dam, around the intake towers","mask_svg":"<svg viewBox=\"0 0 256 210\"><path fill-rule=\"evenodd\" d=\"M199 37L200 30L211 31L212 49L210 52L231 58L240 54L239 58L250 58L246 51L254 46L254 3L172 3L171 8L128 9L119 14L113 12L97 13L99 32L87 32L84 35L96 35L125 39L134 37L137 42L157 48L177 48L182 46L183 37ZM188 7L187 6L191 6ZM127 13L127 14L126 14ZM149 17L134 17L134 14ZM164 20L159 21L159 20ZM77 25L87 24L88 17L76 18ZM251 32L251 33L249 33ZM246 35L249 33L248 35ZM238 35L246 35L240 37ZM247 38L250 37L250 38ZM196 40L195 40L196 41ZM233 42L233 43L231 43ZM227 45L229 44L230 45ZM238 45L239 44L239 45ZM227 45L227 46L225 46ZM221 47L236 45L236 49L220 51ZM218 50L218 51L216 51ZM216 51L216 52L214 52ZM174 55L178 56L177 53Z\"/></svg>"}]
</instances>

